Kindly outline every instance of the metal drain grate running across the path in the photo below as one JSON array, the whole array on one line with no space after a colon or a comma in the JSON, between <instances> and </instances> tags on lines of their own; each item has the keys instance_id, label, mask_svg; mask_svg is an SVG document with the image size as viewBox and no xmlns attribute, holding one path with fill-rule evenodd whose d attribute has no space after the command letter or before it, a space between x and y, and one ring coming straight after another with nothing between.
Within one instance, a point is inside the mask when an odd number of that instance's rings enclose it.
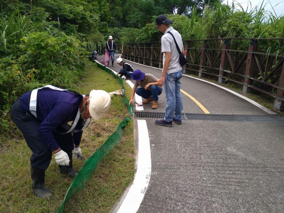
<instances>
[{"instance_id":1,"label":"metal drain grate running across the path","mask_svg":"<svg viewBox=\"0 0 284 213\"><path fill-rule=\"evenodd\" d=\"M165 114L164 112L135 111L134 117L163 119L164 114ZM182 113L182 115L184 120L284 123L284 117L279 115L197 114L197 113Z\"/></svg>"}]
</instances>

